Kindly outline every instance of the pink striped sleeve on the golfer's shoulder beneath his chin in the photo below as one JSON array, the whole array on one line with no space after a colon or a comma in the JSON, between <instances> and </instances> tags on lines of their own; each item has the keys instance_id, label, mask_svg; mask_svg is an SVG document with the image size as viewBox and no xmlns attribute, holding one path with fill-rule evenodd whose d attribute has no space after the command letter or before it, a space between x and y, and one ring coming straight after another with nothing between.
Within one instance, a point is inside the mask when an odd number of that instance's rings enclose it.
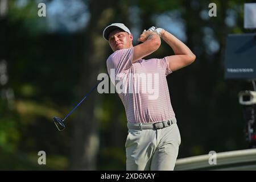
<instances>
[{"instance_id":1,"label":"pink striped sleeve on the golfer's shoulder beneath his chin","mask_svg":"<svg viewBox=\"0 0 256 182\"><path fill-rule=\"evenodd\" d=\"M133 47L129 49L121 49L115 51L108 57L106 64L109 75L111 69L114 69L115 76L118 75L119 77L122 77L122 75L130 69L133 63L133 49Z\"/></svg>"}]
</instances>

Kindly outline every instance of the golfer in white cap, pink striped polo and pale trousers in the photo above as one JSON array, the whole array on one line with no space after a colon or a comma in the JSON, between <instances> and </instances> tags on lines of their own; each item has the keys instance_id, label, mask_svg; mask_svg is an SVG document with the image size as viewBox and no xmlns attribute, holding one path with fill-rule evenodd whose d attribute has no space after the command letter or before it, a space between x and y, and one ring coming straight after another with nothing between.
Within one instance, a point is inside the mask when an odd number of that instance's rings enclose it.
<instances>
[{"instance_id":1,"label":"golfer in white cap, pink striped polo and pale trousers","mask_svg":"<svg viewBox=\"0 0 256 182\"><path fill-rule=\"evenodd\" d=\"M109 74L114 71L112 82L126 111L126 169L174 170L181 138L166 76L193 63L196 56L163 28L144 30L137 46L122 23L110 24L103 36L114 51L106 64ZM175 55L144 60L160 47L160 38Z\"/></svg>"}]
</instances>

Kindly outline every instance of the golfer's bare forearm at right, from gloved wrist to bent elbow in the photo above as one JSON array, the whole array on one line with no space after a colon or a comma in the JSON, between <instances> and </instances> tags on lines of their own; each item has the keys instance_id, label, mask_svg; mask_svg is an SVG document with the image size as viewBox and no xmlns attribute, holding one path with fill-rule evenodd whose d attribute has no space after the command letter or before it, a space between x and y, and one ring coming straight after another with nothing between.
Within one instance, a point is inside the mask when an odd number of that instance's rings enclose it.
<instances>
[{"instance_id":1,"label":"golfer's bare forearm at right, from gloved wrist to bent elbow","mask_svg":"<svg viewBox=\"0 0 256 182\"><path fill-rule=\"evenodd\" d=\"M194 56L193 52L183 42L165 30L162 32L162 39L171 46L175 55Z\"/></svg>"}]
</instances>

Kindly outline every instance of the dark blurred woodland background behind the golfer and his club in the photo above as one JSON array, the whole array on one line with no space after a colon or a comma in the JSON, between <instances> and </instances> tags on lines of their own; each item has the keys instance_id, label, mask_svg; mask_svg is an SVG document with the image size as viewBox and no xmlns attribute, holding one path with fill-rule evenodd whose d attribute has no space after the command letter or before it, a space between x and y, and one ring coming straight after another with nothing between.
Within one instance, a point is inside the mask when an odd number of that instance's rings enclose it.
<instances>
[{"instance_id":1,"label":"dark blurred woodland background behind the golfer and his club","mask_svg":"<svg viewBox=\"0 0 256 182\"><path fill-rule=\"evenodd\" d=\"M38 4L46 4L46 17ZM210 17L209 3L217 16ZM126 115L117 94L94 91L112 53L102 31L122 22L135 40L151 26L183 41L196 61L167 77L181 133L178 158L248 148L238 92L225 80L228 34L245 34L243 5L251 1L0 0L0 169L125 170ZM134 41L134 45L137 41ZM166 43L148 57L172 55ZM46 152L46 165L38 152Z\"/></svg>"}]
</instances>

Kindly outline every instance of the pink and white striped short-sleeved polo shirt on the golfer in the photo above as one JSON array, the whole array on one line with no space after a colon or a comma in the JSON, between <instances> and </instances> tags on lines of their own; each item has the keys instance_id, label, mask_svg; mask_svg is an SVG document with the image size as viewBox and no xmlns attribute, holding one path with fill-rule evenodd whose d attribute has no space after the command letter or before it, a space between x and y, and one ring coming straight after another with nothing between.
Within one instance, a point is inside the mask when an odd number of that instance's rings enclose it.
<instances>
[{"instance_id":1,"label":"pink and white striped short-sleeved polo shirt on the golfer","mask_svg":"<svg viewBox=\"0 0 256 182\"><path fill-rule=\"evenodd\" d=\"M175 117L166 80L172 73L168 57L132 63L133 51L133 47L115 51L106 61L127 122L154 123Z\"/></svg>"}]
</instances>

